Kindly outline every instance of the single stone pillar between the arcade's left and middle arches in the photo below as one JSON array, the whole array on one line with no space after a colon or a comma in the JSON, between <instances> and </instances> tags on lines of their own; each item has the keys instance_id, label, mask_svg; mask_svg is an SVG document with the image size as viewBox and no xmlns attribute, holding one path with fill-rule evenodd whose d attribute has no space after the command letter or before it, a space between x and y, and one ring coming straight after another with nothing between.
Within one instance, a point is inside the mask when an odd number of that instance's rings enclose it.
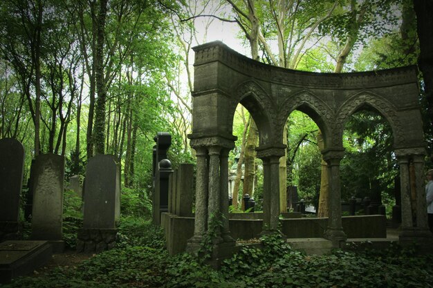
<instances>
[{"instance_id":1,"label":"single stone pillar between the arcade's left and middle arches","mask_svg":"<svg viewBox=\"0 0 433 288\"><path fill-rule=\"evenodd\" d=\"M263 231L277 233L279 224L279 158L284 156L286 146L257 148L257 157L264 166Z\"/></svg>"}]
</instances>

